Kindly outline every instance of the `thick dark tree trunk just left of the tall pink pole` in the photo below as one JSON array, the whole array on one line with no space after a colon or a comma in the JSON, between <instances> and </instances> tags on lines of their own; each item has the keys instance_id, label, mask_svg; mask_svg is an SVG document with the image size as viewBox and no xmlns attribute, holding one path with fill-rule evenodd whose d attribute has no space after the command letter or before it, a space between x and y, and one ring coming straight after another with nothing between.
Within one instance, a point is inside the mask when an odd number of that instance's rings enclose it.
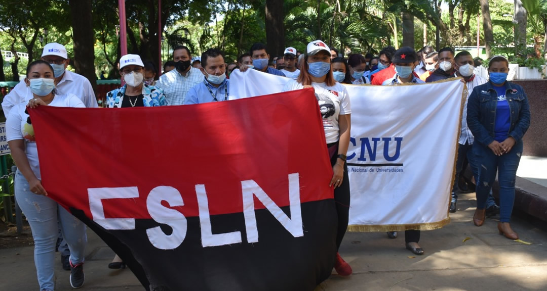
<instances>
[{"instance_id":1,"label":"thick dark tree trunk just left of the tall pink pole","mask_svg":"<svg viewBox=\"0 0 547 291\"><path fill-rule=\"evenodd\" d=\"M72 15L72 39L74 41L74 68L91 82L97 92L95 75L94 31L91 16L92 0L69 0Z\"/></svg>"}]
</instances>

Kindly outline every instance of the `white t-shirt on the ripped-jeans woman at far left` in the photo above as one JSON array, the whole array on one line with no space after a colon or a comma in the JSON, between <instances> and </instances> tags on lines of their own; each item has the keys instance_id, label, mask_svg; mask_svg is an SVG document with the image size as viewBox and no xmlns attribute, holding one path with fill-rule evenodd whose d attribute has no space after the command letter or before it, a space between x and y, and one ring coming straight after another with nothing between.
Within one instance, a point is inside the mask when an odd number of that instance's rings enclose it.
<instances>
[{"instance_id":1,"label":"white t-shirt on the ripped-jeans woman at far left","mask_svg":"<svg viewBox=\"0 0 547 291\"><path fill-rule=\"evenodd\" d=\"M8 119L5 121L5 135L7 141L25 140L25 153L27 154L28 163L34 175L38 179L42 179L40 164L38 162L38 150L36 148L36 140L34 139L34 128L32 124L27 123L28 114L25 113L26 105L27 103L19 103L11 108ZM82 100L74 94L55 95L49 106L85 108Z\"/></svg>"}]
</instances>

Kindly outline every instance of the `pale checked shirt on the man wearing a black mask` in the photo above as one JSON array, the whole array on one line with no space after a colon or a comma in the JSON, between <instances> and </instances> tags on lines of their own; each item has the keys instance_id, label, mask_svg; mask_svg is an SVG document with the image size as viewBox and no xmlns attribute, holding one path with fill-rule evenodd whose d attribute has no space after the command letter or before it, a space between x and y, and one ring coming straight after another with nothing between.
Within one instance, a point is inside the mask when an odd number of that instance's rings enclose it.
<instances>
[{"instance_id":1,"label":"pale checked shirt on the man wearing a black mask","mask_svg":"<svg viewBox=\"0 0 547 291\"><path fill-rule=\"evenodd\" d=\"M173 69L160 76L156 87L164 90L168 105L182 105L191 87L203 81L203 74L199 69L190 67L186 76Z\"/></svg>"}]
</instances>

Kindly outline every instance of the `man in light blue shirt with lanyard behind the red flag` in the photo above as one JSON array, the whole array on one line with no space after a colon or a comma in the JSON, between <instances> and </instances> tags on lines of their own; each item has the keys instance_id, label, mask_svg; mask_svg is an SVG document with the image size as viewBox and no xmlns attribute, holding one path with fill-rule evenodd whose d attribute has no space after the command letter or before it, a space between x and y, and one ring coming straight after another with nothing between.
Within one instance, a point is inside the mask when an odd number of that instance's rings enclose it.
<instances>
[{"instance_id":1,"label":"man in light blue shirt with lanyard behind the red flag","mask_svg":"<svg viewBox=\"0 0 547 291\"><path fill-rule=\"evenodd\" d=\"M226 101L230 96L230 81L226 79L226 63L218 49L208 49L201 54L203 81L188 91L184 104Z\"/></svg>"}]
</instances>

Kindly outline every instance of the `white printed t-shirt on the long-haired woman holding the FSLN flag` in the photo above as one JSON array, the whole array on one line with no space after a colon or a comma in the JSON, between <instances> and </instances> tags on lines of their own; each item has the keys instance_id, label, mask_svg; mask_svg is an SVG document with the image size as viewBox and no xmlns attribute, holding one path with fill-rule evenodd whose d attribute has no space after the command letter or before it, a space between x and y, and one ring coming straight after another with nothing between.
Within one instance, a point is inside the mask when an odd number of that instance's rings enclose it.
<instances>
[{"instance_id":1,"label":"white printed t-shirt on the long-haired woman holding the FSLN flag","mask_svg":"<svg viewBox=\"0 0 547 291\"><path fill-rule=\"evenodd\" d=\"M348 96L346 87L336 82L334 86L327 86L325 83L312 82L315 89L319 110L323 117L323 128L325 129L325 138L327 144L331 144L340 139L340 127L338 126L338 116L351 114L350 96ZM304 88L296 80L290 80L283 88L283 92L299 90Z\"/></svg>"}]
</instances>

